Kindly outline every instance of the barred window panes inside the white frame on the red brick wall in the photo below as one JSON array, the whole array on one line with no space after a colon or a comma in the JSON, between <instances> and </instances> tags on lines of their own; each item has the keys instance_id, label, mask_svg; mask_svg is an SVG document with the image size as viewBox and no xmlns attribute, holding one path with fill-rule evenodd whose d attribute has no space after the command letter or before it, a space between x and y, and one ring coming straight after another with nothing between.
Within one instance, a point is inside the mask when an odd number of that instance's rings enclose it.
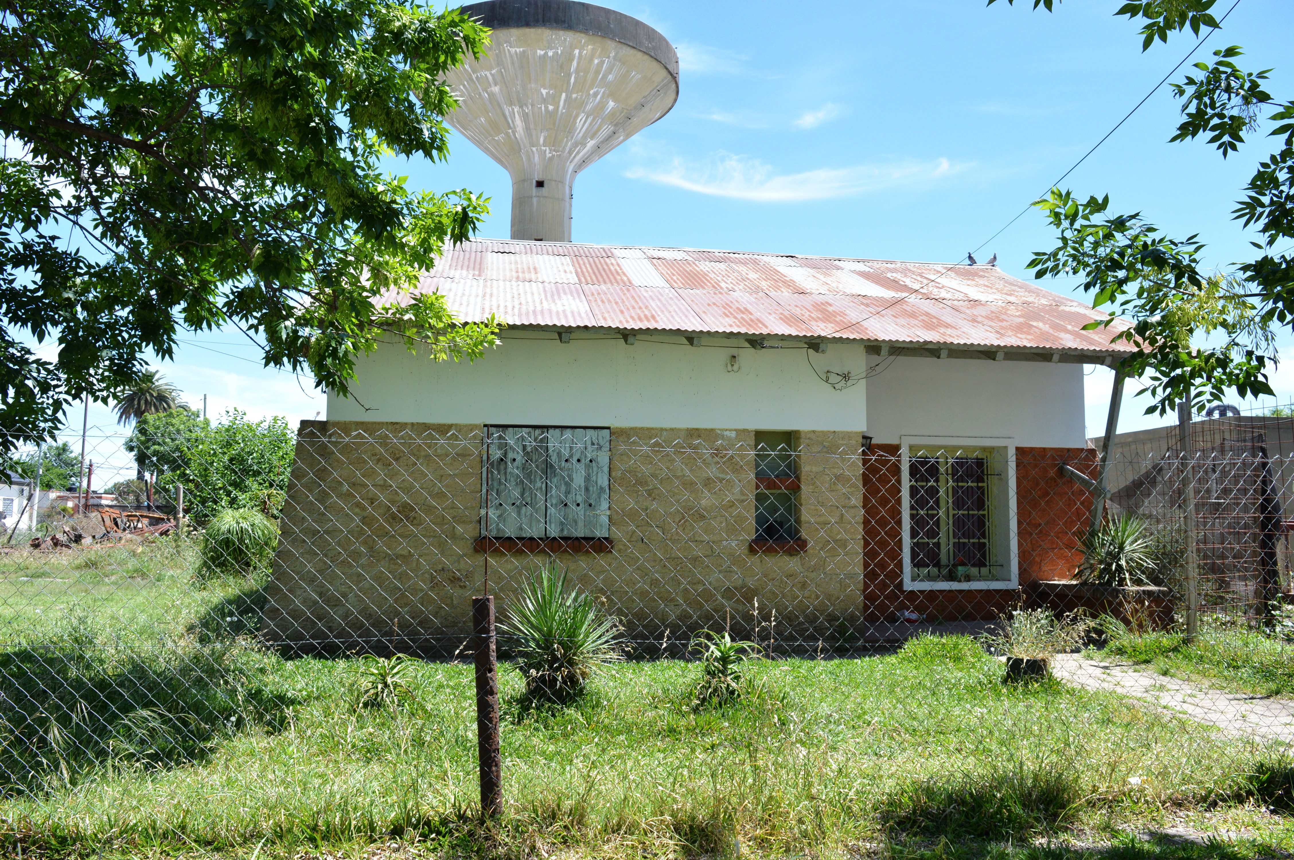
<instances>
[{"instance_id":1,"label":"barred window panes inside the white frame on the red brick wall","mask_svg":"<svg viewBox=\"0 0 1294 860\"><path fill-rule=\"evenodd\" d=\"M907 462L914 582L1011 578L996 547L1002 469L991 449L914 449Z\"/></svg>"}]
</instances>

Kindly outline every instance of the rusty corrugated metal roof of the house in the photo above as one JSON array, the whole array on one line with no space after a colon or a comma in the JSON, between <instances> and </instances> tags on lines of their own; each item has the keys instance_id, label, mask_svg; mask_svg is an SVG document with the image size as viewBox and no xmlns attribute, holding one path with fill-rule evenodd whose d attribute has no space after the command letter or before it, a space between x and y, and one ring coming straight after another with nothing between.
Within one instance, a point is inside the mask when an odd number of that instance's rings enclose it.
<instances>
[{"instance_id":1,"label":"rusty corrugated metal roof of the house","mask_svg":"<svg viewBox=\"0 0 1294 860\"><path fill-rule=\"evenodd\" d=\"M459 319L892 344L1130 352L1083 303L995 266L485 239L446 250L421 291Z\"/></svg>"}]
</instances>

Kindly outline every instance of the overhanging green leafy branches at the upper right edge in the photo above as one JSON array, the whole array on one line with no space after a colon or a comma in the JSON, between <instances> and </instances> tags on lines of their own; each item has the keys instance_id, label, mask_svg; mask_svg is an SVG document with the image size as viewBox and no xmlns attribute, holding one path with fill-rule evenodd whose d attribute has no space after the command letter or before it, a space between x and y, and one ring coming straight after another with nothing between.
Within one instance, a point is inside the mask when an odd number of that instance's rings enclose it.
<instances>
[{"instance_id":1,"label":"overhanging green leafy branches at the upper right edge","mask_svg":"<svg viewBox=\"0 0 1294 860\"><path fill-rule=\"evenodd\" d=\"M989 0L992 5L995 0ZM1013 3L1014 0L1008 0ZM1124 3L1115 14L1140 21L1141 49L1189 28L1194 35L1216 30L1210 12L1216 0L1153 0ZM1048 12L1060 0L1034 0ZM1108 308L1104 321L1130 323L1115 340L1136 352L1122 369L1145 378L1153 403L1148 413L1166 413L1190 398L1202 411L1223 402L1228 391L1244 396L1271 394L1267 369L1276 362L1273 330L1294 328L1294 102L1273 98L1266 89L1269 69L1249 72L1232 45L1214 52L1214 61L1197 62L1196 72L1172 84L1181 100L1181 123L1170 140L1201 136L1227 158L1240 153L1246 136L1266 131L1277 149L1258 162L1232 215L1256 231L1254 259L1228 270L1207 272L1197 235L1178 239L1162 234L1140 212L1112 215L1109 195L1074 195L1052 189L1036 206L1058 230L1060 242L1029 261L1036 277L1080 274L1096 308Z\"/></svg>"}]
</instances>

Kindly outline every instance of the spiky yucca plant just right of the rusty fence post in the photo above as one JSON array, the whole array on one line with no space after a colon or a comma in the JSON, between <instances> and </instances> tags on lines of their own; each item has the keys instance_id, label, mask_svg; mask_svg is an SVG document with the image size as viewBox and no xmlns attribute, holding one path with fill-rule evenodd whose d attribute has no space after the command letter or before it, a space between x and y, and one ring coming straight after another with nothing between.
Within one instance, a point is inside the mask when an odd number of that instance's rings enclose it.
<instances>
[{"instance_id":1,"label":"spiky yucca plant just right of the rusty fence post","mask_svg":"<svg viewBox=\"0 0 1294 860\"><path fill-rule=\"evenodd\" d=\"M568 702L599 666L624 658L620 622L593 595L567 588L556 563L531 573L498 627L531 701Z\"/></svg>"}]
</instances>

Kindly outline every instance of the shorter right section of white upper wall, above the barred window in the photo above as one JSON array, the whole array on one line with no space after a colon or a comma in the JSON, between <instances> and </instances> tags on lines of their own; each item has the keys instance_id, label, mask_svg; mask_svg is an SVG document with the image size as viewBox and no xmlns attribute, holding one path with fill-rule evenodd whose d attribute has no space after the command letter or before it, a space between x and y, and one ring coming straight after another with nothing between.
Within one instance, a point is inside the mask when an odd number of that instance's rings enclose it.
<instances>
[{"instance_id":1,"label":"shorter right section of white upper wall, above the barred window","mask_svg":"<svg viewBox=\"0 0 1294 860\"><path fill-rule=\"evenodd\" d=\"M877 442L897 445L901 436L999 436L1038 447L1087 444L1083 365L876 357L871 362L867 432Z\"/></svg>"}]
</instances>

